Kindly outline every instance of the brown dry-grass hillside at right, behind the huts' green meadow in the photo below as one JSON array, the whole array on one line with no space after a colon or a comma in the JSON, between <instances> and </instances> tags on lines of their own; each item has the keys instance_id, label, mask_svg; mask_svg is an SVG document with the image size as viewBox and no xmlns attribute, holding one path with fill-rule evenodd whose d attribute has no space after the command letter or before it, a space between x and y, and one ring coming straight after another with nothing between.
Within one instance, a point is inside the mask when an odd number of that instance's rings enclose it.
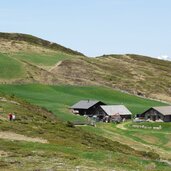
<instances>
[{"instance_id":1,"label":"brown dry-grass hillside at right, behind the huts' green meadow","mask_svg":"<svg viewBox=\"0 0 171 171\"><path fill-rule=\"evenodd\" d=\"M171 62L139 55L63 61L53 73L65 83L103 85L171 102Z\"/></svg>"}]
</instances>

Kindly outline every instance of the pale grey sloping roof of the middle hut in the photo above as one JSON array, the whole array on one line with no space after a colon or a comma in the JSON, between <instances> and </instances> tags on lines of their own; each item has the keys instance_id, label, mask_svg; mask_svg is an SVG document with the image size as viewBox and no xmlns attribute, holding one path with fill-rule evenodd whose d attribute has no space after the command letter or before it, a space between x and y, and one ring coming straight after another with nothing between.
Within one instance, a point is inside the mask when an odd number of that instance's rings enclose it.
<instances>
[{"instance_id":1,"label":"pale grey sloping roof of the middle hut","mask_svg":"<svg viewBox=\"0 0 171 171\"><path fill-rule=\"evenodd\" d=\"M107 115L132 115L124 105L101 105Z\"/></svg>"}]
</instances>

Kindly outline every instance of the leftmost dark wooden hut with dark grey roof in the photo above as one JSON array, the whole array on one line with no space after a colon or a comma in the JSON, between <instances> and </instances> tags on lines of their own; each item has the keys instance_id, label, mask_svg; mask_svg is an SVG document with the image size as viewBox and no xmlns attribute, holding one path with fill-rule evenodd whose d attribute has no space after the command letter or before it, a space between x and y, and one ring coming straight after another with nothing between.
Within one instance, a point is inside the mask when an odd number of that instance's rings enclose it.
<instances>
[{"instance_id":1,"label":"leftmost dark wooden hut with dark grey roof","mask_svg":"<svg viewBox=\"0 0 171 171\"><path fill-rule=\"evenodd\" d=\"M105 103L97 100L81 100L70 108L75 114L93 116L99 110L100 105L105 105Z\"/></svg>"}]
</instances>

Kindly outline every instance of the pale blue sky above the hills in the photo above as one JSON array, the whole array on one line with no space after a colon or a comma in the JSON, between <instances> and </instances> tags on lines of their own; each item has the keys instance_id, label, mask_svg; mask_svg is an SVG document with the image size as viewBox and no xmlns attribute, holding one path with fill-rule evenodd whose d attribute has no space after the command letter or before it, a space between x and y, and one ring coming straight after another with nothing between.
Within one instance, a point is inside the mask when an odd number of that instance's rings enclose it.
<instances>
[{"instance_id":1,"label":"pale blue sky above the hills","mask_svg":"<svg viewBox=\"0 0 171 171\"><path fill-rule=\"evenodd\" d=\"M0 0L0 32L19 32L88 56L171 57L171 0Z\"/></svg>"}]
</instances>

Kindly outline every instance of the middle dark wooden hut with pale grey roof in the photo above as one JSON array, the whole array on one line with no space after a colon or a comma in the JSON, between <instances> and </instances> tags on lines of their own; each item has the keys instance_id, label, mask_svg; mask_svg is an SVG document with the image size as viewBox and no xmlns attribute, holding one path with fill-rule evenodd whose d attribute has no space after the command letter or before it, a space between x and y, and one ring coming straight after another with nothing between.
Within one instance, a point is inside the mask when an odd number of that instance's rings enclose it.
<instances>
[{"instance_id":1,"label":"middle dark wooden hut with pale grey roof","mask_svg":"<svg viewBox=\"0 0 171 171\"><path fill-rule=\"evenodd\" d=\"M119 117L121 119L131 119L132 116L132 113L124 105L101 105L100 109L97 115L101 119L106 118L106 116L111 119Z\"/></svg>"}]
</instances>

